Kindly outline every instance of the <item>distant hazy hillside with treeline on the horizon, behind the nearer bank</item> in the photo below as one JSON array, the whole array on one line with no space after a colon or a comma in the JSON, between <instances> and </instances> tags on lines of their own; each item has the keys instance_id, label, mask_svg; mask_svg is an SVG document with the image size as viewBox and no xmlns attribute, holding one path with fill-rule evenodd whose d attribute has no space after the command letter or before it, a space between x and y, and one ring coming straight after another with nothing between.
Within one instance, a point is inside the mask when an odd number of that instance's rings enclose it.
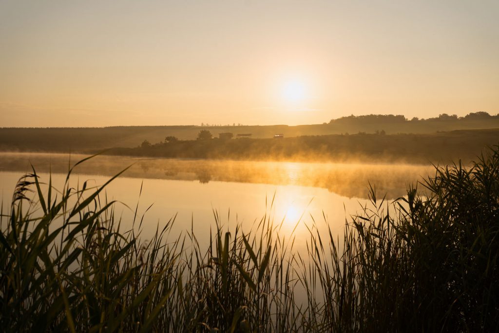
<instances>
[{"instance_id":1,"label":"distant hazy hillside with treeline on the horizon, behind the nearer bank","mask_svg":"<svg viewBox=\"0 0 499 333\"><path fill-rule=\"evenodd\" d=\"M458 118L440 115L430 119L408 120L396 115L349 116L316 125L268 126L130 126L103 128L0 128L0 150L82 152L112 147L136 147L144 140L160 142L167 136L194 140L198 133L209 130L212 135L230 132L250 133L251 138L272 138L282 133L285 138L312 135L355 134L359 132L386 134L436 133L465 129L499 128L499 116L485 112L470 113Z\"/></svg>"}]
</instances>

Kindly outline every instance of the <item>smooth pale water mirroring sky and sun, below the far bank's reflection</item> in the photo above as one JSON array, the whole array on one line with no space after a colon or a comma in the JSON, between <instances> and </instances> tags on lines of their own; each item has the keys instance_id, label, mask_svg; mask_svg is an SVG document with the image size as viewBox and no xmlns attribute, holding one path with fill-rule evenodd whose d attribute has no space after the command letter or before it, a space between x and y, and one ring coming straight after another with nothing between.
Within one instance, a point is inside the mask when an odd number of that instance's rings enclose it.
<instances>
[{"instance_id":1,"label":"smooth pale water mirroring sky and sun, below the far bank's reflection","mask_svg":"<svg viewBox=\"0 0 499 333\"><path fill-rule=\"evenodd\" d=\"M19 175L19 172L0 172L4 211L8 210ZM38 175L40 182L44 183L42 190L46 193L49 174ZM89 180L89 186L98 187L108 179L108 176L81 176L75 173L70 184L76 188L78 183L81 186L83 180ZM65 175L52 174L55 189L61 190L64 181ZM28 195L33 198L36 193ZM330 227L341 238L346 212L355 214L360 207L358 199L341 197L321 188L219 181L200 184L197 181L128 177L119 177L111 182L102 192L100 200L104 198L118 200L114 207L115 215L120 220L120 230L126 232L137 228L133 220L135 207L138 207L138 221L145 214L140 230L142 240L151 240L158 225L161 229L176 217L167 240L173 241L192 229L203 249L208 248L210 232L217 228L214 212L222 229L233 235L237 225L247 233L266 217L281 240L288 242L296 238L300 241L295 242L294 249L306 251L303 240L308 238L309 229L317 229L327 235L327 228ZM325 220L322 219L323 213ZM317 221L316 225L312 217Z\"/></svg>"}]
</instances>

